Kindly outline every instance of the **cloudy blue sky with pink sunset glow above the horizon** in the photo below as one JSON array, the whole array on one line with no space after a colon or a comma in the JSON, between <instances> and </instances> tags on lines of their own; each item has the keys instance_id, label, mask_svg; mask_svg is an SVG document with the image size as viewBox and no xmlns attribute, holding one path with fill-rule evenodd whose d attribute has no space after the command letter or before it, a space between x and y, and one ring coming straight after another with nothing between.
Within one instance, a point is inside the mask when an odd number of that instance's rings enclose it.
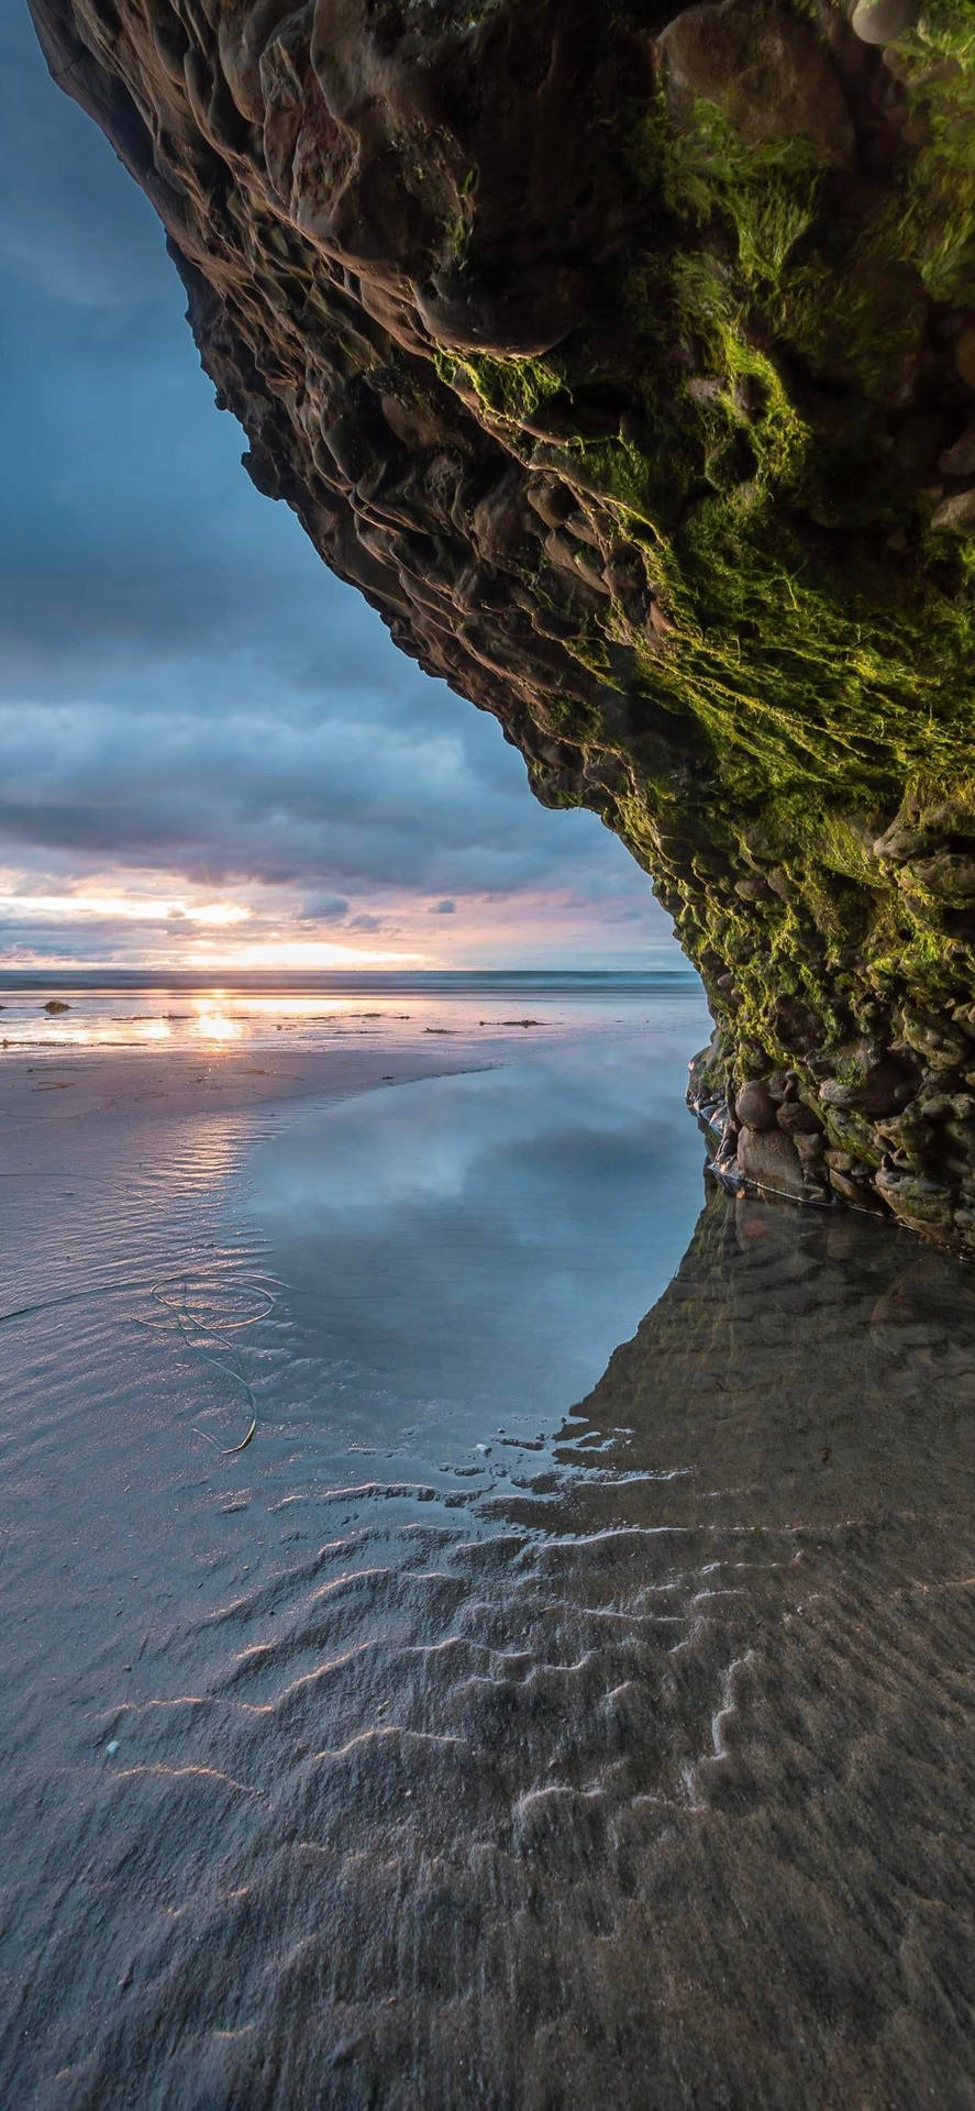
<instances>
[{"instance_id":1,"label":"cloudy blue sky with pink sunset glow above the horizon","mask_svg":"<svg viewBox=\"0 0 975 2111\"><path fill-rule=\"evenodd\" d=\"M0 967L677 967L241 469L162 230L0 23Z\"/></svg>"}]
</instances>

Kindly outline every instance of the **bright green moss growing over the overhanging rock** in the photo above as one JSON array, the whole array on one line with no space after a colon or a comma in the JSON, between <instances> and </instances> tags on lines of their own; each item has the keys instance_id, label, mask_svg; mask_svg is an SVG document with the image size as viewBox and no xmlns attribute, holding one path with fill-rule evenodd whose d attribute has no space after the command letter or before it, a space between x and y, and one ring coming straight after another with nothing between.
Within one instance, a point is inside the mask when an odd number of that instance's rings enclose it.
<instances>
[{"instance_id":1,"label":"bright green moss growing over the overhanging rock","mask_svg":"<svg viewBox=\"0 0 975 2111\"><path fill-rule=\"evenodd\" d=\"M627 790L580 771L576 796L652 870L739 1068L964 986L943 904L874 838L958 798L975 745L975 543L931 532L893 456L929 298L975 306L975 6L933 0L897 53L924 144L855 213L806 139L756 146L703 101L680 129L663 101L639 112L648 239L616 378L593 329L616 433L525 431L585 397L585 334L557 359L437 361L525 469L595 507L671 625L642 625L633 597L578 625L568 650L608 701L572 705L566 735L593 768L627 760ZM610 644L633 669L625 711ZM561 777L544 796L572 802Z\"/></svg>"}]
</instances>

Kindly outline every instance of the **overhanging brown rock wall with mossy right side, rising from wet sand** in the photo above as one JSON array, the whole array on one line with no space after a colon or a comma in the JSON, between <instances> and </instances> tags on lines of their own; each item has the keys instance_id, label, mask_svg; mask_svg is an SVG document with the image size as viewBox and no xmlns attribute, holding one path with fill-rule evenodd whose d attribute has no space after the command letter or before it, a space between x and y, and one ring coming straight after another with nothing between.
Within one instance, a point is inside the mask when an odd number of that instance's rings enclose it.
<instances>
[{"instance_id":1,"label":"overhanging brown rock wall with mossy right side, rising from wet sand","mask_svg":"<svg viewBox=\"0 0 975 2111\"><path fill-rule=\"evenodd\" d=\"M395 642L652 874L726 1178L975 1245L969 0L32 0Z\"/></svg>"}]
</instances>

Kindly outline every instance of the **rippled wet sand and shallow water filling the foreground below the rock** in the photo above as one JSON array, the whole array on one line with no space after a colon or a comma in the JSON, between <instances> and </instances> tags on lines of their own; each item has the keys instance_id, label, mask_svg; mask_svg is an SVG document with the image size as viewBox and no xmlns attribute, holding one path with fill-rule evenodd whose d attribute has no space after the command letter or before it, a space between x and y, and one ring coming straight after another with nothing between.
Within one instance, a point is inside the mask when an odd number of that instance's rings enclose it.
<instances>
[{"instance_id":1,"label":"rippled wet sand and shallow water filling the foreground below the rock","mask_svg":"<svg viewBox=\"0 0 975 2111\"><path fill-rule=\"evenodd\" d=\"M4 2105L971 2103L973 1275L690 1024L8 1182Z\"/></svg>"}]
</instances>

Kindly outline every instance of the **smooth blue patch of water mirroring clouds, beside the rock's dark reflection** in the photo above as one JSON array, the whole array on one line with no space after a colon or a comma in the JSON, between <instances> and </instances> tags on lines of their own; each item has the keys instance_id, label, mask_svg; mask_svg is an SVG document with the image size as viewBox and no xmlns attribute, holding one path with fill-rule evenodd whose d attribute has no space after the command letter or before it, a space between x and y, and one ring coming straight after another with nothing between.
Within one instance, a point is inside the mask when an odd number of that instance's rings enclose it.
<instances>
[{"instance_id":1,"label":"smooth blue patch of water mirroring clouds, beside the rock's dark reflection","mask_svg":"<svg viewBox=\"0 0 975 2111\"><path fill-rule=\"evenodd\" d=\"M298 1353L336 1368L319 1406L378 1440L422 1410L456 1452L462 1429L578 1400L694 1226L684 1064L627 1037L289 1108L251 1159L247 1218Z\"/></svg>"}]
</instances>

